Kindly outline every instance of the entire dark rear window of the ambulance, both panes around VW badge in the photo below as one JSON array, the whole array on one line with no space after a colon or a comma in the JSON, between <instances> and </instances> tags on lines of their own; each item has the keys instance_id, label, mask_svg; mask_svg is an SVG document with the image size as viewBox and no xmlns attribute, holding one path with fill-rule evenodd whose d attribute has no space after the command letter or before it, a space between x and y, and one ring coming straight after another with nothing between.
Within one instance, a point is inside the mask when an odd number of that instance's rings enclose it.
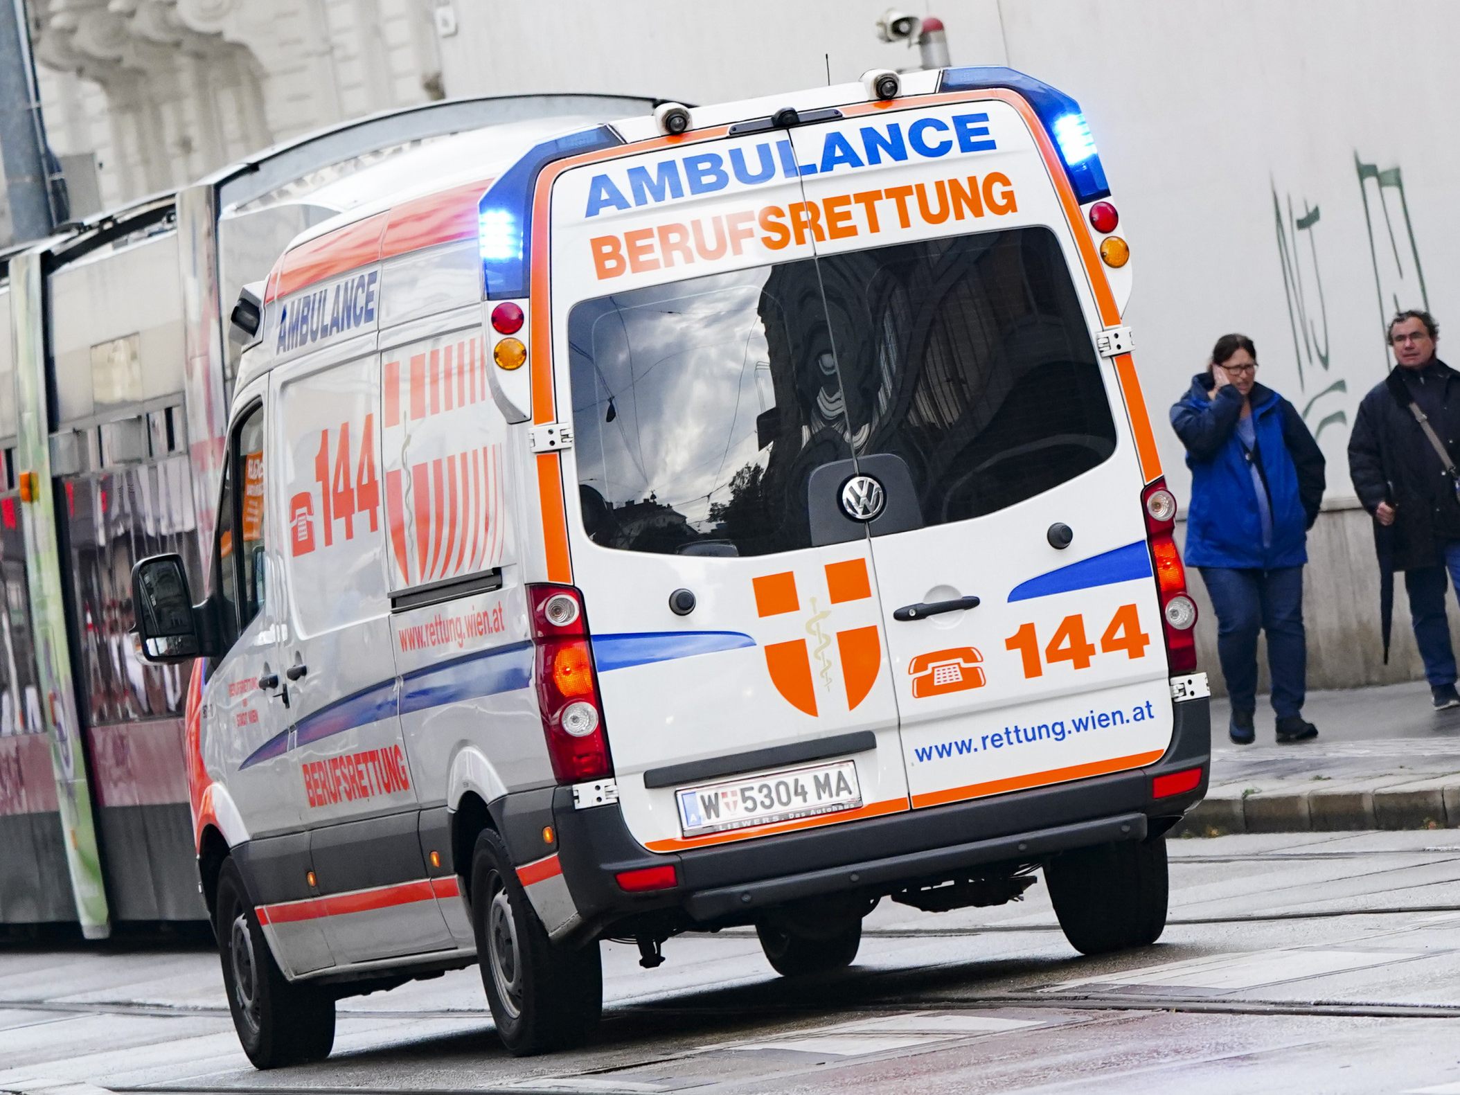
<instances>
[{"instance_id":1,"label":"entire dark rear window of the ambulance, both panes around VW badge","mask_svg":"<svg viewBox=\"0 0 1460 1095\"><path fill-rule=\"evenodd\" d=\"M583 520L607 548L810 546L807 479L854 453L898 456L939 524L1048 491L1115 445L1044 228L615 293L575 305L568 337Z\"/></svg>"}]
</instances>

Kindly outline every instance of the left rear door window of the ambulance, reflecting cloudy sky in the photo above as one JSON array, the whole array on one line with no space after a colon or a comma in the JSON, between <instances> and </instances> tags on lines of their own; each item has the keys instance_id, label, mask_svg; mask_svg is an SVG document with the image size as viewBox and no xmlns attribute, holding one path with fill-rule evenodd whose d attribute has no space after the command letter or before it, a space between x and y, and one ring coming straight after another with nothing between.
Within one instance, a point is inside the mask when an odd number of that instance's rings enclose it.
<instances>
[{"instance_id":1,"label":"left rear door window of the ambulance, reflecting cloudy sky","mask_svg":"<svg viewBox=\"0 0 1460 1095\"><path fill-rule=\"evenodd\" d=\"M711 556L810 546L807 479L851 456L815 263L585 301L568 337L594 543Z\"/></svg>"}]
</instances>

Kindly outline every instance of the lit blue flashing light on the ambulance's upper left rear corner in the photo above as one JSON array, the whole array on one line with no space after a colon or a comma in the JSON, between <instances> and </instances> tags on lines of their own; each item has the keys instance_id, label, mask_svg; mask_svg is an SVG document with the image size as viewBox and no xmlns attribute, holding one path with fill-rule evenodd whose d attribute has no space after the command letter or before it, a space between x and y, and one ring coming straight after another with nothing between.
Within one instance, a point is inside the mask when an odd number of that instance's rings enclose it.
<instances>
[{"instance_id":1,"label":"lit blue flashing light on the ambulance's upper left rear corner","mask_svg":"<svg viewBox=\"0 0 1460 1095\"><path fill-rule=\"evenodd\" d=\"M546 140L504 171L477 204L482 292L489 301L521 298L531 285L533 191L537 175L558 159L622 145L607 126Z\"/></svg>"}]
</instances>

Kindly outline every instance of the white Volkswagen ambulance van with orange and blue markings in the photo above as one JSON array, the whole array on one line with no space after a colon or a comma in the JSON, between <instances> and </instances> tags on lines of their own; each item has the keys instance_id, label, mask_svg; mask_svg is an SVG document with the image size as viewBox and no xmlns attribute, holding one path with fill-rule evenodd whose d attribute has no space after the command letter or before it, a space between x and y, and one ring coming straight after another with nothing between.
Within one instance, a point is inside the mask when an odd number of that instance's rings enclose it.
<instances>
[{"instance_id":1,"label":"white Volkswagen ambulance van with orange and blue markings","mask_svg":"<svg viewBox=\"0 0 1460 1095\"><path fill-rule=\"evenodd\" d=\"M473 962L571 1045L600 940L816 975L1037 872L1161 934L1209 694L1073 99L872 72L402 184L234 312L206 599L134 572L256 1064Z\"/></svg>"}]
</instances>

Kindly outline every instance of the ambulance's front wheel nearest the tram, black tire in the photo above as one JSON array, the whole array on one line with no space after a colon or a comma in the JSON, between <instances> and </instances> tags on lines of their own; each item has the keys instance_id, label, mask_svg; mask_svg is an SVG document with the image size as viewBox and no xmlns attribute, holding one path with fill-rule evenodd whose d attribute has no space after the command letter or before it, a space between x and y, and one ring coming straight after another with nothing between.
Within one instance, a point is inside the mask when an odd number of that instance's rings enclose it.
<instances>
[{"instance_id":1,"label":"ambulance's front wheel nearest the tram, black tire","mask_svg":"<svg viewBox=\"0 0 1460 1095\"><path fill-rule=\"evenodd\" d=\"M248 1060L256 1069L280 1069L328 1057L334 997L291 983L279 969L232 857L219 870L215 908L228 1010Z\"/></svg>"}]
</instances>

